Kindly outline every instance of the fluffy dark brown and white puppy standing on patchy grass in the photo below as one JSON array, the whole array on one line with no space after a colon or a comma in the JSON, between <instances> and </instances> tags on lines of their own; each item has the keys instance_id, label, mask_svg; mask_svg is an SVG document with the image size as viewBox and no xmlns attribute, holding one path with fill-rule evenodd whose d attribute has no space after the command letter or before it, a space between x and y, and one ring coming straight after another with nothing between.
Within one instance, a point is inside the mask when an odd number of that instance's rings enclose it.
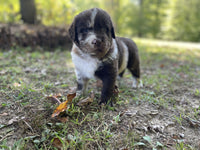
<instances>
[{"instance_id":1,"label":"fluffy dark brown and white puppy standing on patchy grass","mask_svg":"<svg viewBox=\"0 0 200 150\"><path fill-rule=\"evenodd\" d=\"M133 87L140 78L136 44L128 38L116 37L107 12L93 8L78 14L69 28L73 41L71 51L77 77L77 93L85 93L91 78L102 80L101 103L112 99L117 75L126 68L133 75Z\"/></svg>"}]
</instances>

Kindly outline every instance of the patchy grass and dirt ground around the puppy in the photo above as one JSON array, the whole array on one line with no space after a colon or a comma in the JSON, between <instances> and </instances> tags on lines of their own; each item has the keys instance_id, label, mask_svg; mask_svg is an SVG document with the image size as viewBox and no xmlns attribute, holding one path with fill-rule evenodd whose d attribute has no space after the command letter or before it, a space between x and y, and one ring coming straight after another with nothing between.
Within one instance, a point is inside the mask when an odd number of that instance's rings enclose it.
<instances>
[{"instance_id":1,"label":"patchy grass and dirt ground around the puppy","mask_svg":"<svg viewBox=\"0 0 200 150\"><path fill-rule=\"evenodd\" d=\"M198 149L200 50L136 43L143 88L130 88L127 71L115 107L100 107L91 81L94 102L76 98L58 118L47 96L64 101L75 86L70 52L1 50L0 149Z\"/></svg>"}]
</instances>

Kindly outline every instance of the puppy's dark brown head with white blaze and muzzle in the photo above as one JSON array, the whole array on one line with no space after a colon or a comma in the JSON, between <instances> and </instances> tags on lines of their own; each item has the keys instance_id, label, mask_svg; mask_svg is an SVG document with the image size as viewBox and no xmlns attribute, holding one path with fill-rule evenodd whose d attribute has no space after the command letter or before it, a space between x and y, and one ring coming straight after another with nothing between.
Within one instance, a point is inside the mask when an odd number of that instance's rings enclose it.
<instances>
[{"instance_id":1,"label":"puppy's dark brown head with white blaze and muzzle","mask_svg":"<svg viewBox=\"0 0 200 150\"><path fill-rule=\"evenodd\" d=\"M110 16L102 9L93 8L81 12L69 28L72 41L84 52L103 58L115 38Z\"/></svg>"}]
</instances>

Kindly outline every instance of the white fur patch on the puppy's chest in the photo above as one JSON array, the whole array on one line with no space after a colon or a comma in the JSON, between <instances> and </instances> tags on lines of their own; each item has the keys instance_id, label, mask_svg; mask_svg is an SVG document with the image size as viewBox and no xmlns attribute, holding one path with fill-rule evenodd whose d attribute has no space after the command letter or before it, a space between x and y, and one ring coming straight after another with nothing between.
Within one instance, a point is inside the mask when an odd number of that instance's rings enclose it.
<instances>
[{"instance_id":1,"label":"white fur patch on the puppy's chest","mask_svg":"<svg viewBox=\"0 0 200 150\"><path fill-rule=\"evenodd\" d=\"M71 52L72 61L75 65L75 73L77 77L94 79L95 71L99 67L100 61L92 58L88 54L81 53L81 56L75 52Z\"/></svg>"}]
</instances>

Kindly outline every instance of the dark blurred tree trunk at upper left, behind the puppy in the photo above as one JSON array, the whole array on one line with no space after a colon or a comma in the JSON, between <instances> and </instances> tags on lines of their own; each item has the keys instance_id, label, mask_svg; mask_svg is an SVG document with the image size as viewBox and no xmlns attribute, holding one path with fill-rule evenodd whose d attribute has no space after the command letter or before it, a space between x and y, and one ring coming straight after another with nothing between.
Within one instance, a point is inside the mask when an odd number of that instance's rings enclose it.
<instances>
[{"instance_id":1,"label":"dark blurred tree trunk at upper left, behind the puppy","mask_svg":"<svg viewBox=\"0 0 200 150\"><path fill-rule=\"evenodd\" d=\"M21 19L24 23L36 23L36 7L35 0L20 0Z\"/></svg>"}]
</instances>

